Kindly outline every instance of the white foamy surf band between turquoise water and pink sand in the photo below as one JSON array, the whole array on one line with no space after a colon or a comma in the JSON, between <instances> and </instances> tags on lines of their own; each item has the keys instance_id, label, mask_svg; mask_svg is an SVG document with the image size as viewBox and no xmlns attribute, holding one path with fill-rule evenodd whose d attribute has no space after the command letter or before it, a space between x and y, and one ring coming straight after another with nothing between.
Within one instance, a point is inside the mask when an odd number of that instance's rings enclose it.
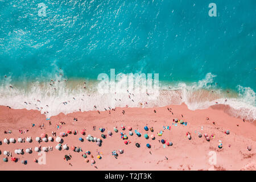
<instances>
[{"instance_id":1,"label":"white foamy surf band between turquoise water and pink sand","mask_svg":"<svg viewBox=\"0 0 256 182\"><path fill-rule=\"evenodd\" d=\"M222 90L212 84L216 76L211 73L208 73L203 80L190 84L180 82L170 86L162 83L159 96L154 100L150 100L148 94L139 92L139 89L129 90L126 93L123 90L119 93L116 89L115 93L100 94L97 92L98 82L86 83L85 89L82 81L74 81L71 84L71 81L65 82L64 78L55 77L53 86L49 85L50 82L34 82L27 87L14 86L13 88L9 87L12 83L11 77L7 77L0 86L0 105L10 106L13 109L36 109L46 114L46 117L51 117L59 113L68 114L79 110L102 111L105 108L109 109L108 107L126 107L126 105L156 107L179 105L183 102L189 109L196 110L207 109L218 102L218 104L229 105L229 114L234 117L256 119L255 92L251 88L238 85L237 96L227 98ZM125 82L123 79L126 77L116 83L116 88L120 88Z\"/></svg>"}]
</instances>

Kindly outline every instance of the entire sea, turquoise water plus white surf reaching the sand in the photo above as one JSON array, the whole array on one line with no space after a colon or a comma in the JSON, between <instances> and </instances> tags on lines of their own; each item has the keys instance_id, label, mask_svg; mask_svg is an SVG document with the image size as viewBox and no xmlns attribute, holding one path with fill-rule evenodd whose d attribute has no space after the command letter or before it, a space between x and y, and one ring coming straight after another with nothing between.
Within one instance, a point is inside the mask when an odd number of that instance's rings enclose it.
<instances>
[{"instance_id":1,"label":"entire sea, turquoise water plus white surf reaching the sand","mask_svg":"<svg viewBox=\"0 0 256 182\"><path fill-rule=\"evenodd\" d=\"M255 7L255 0L0 0L0 105L51 117L94 106L184 102L195 110L218 102L254 120ZM97 77L110 69L158 73L159 97L98 93Z\"/></svg>"}]
</instances>

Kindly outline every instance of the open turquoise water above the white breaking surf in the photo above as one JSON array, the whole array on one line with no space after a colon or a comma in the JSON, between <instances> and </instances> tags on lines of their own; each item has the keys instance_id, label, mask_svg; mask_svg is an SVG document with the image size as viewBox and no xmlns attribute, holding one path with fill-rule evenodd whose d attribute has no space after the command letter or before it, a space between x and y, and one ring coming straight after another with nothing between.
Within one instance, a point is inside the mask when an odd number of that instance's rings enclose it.
<instances>
[{"instance_id":1,"label":"open turquoise water above the white breaking surf","mask_svg":"<svg viewBox=\"0 0 256 182\"><path fill-rule=\"evenodd\" d=\"M255 19L255 0L1 0L0 79L46 81L59 68L97 79L114 68L170 82L212 73L220 88L255 91Z\"/></svg>"}]
</instances>

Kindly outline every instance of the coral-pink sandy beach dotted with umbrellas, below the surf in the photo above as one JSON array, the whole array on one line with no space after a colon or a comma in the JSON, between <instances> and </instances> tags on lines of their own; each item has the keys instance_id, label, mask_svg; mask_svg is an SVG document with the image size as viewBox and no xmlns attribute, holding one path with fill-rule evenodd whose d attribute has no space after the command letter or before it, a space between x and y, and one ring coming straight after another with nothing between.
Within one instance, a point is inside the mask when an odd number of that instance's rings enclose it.
<instances>
[{"instance_id":1,"label":"coral-pink sandy beach dotted with umbrellas, below the surf","mask_svg":"<svg viewBox=\"0 0 256 182\"><path fill-rule=\"evenodd\" d=\"M71 114L59 114L51 117L51 125L46 120L45 115L36 110L14 110L8 107L0 107L0 145L1 170L256 170L256 127L255 122L243 122L242 119L230 117L224 113L221 106L210 107L205 110L188 110L186 105L168 106L172 109L173 115L166 107L157 107L150 109L141 108L117 108L115 111L97 111L77 112ZM122 114L125 110L125 114ZM156 110L156 113L154 113ZM183 114L184 118L181 117ZM209 118L207 120L206 118ZM73 121L77 118L78 121ZM187 126L177 123L172 119L183 119L187 122ZM65 122L61 125L61 129L57 130L56 125L60 121ZM215 125L213 124L215 122ZM35 123L32 127L31 123ZM44 123L45 129L40 129L39 125ZM121 130L121 125L126 127L126 130ZM145 131L144 126L153 127L154 132ZM171 130L164 130L163 126L171 126ZM237 126L239 125L239 126ZM93 126L96 130L93 131ZM118 127L118 133L115 133L113 127ZM134 130L141 132L142 136L138 137L135 133L129 135L127 127L131 126ZM201 130L203 126L203 130ZM100 127L104 127L104 134L112 131L113 136L107 136L102 139L102 146L97 146L96 142L86 140L88 134L93 137L101 138ZM28 129L27 133L20 134L19 130ZM68 151L58 151L55 149L57 144L53 142L36 142L35 138L40 137L44 132L48 136L52 136L52 131L56 131L59 135L61 131L77 130L78 134L70 134L63 137L64 143L69 146ZM86 129L86 134L81 135L80 131ZM3 131L12 130L11 134L4 134ZM163 135L159 137L157 133L162 130ZM227 135L224 132L230 131ZM121 139L120 131L127 134L131 143L125 144ZM186 133L191 134L191 140L186 137ZM202 133L203 137L198 137L198 132ZM155 135L155 140L151 138L145 139L144 134L148 133ZM213 134L208 142L204 134ZM3 143L4 138L32 137L32 143ZM84 138L84 142L79 141L79 137ZM56 137L53 137L56 138ZM172 142L173 146L163 148L163 144L159 140L165 139ZM218 140L222 141L222 149L218 148ZM135 143L141 143L141 147L137 148ZM150 143L151 148L147 148L146 144ZM33 162L38 159L38 152L34 151L36 146L53 146L53 151L46 153L46 164L38 164ZM71 150L71 146L79 146L82 152ZM251 146L252 150L248 151L247 146ZM25 152L26 148L32 148L32 154ZM14 150L23 148L24 154L15 154ZM123 154L119 154L115 159L112 155L113 150L123 149ZM3 151L11 151L12 155L19 158L18 162L12 162L9 156L9 162L3 162ZM86 163L82 158L82 154L89 150L90 155L86 159L91 160L92 155L96 163ZM102 159L97 159L97 152L100 151ZM214 152L210 152L214 151ZM150 154L151 152L151 154ZM64 160L65 154L71 154L72 158L68 162ZM216 161L214 161L216 154ZM165 158L168 158L168 160ZM27 160L27 164L21 163L22 160ZM216 162L216 163L214 163ZM72 164L69 165L69 163ZM96 168L97 167L97 168Z\"/></svg>"}]
</instances>

